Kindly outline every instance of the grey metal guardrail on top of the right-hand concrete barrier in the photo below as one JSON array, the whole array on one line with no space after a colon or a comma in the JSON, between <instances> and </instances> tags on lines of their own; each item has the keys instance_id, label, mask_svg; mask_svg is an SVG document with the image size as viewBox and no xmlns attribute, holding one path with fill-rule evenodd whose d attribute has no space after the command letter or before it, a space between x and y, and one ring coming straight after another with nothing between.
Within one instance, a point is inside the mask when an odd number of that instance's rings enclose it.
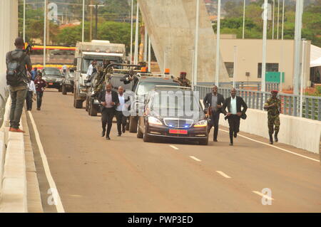
<instances>
[{"instance_id":1,"label":"grey metal guardrail on top of the right-hand concrete barrier","mask_svg":"<svg viewBox=\"0 0 321 227\"><path fill-rule=\"evenodd\" d=\"M205 97L207 93L212 92L212 88L209 86L196 85L194 88L200 92L201 98ZM218 93L226 98L230 96L230 90L231 88L218 88ZM270 97L269 92L242 89L237 89L237 95L243 97L249 108L256 110L263 110L265 100ZM278 93L278 97L282 103L282 114L299 117L300 95ZM303 96L302 117L312 120L321 120L321 97Z\"/></svg>"}]
</instances>

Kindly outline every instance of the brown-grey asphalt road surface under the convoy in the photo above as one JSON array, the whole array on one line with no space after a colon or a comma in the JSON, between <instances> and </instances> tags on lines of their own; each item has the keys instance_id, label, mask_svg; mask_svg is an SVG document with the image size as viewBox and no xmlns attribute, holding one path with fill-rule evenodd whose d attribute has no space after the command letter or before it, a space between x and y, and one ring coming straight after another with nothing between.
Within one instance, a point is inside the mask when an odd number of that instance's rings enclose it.
<instances>
[{"instance_id":1,"label":"brown-grey asphalt road surface under the convoy","mask_svg":"<svg viewBox=\"0 0 321 227\"><path fill-rule=\"evenodd\" d=\"M101 137L100 117L73 108L73 95L56 90L46 91L41 111L33 108L66 212L321 212L320 162L240 136L230 147L223 131L208 146L145 143L128 132L116 137L113 124L108 141ZM41 185L46 204L47 184ZM263 205L263 189L270 189L271 205ZM52 208L45 205L44 211Z\"/></svg>"}]
</instances>

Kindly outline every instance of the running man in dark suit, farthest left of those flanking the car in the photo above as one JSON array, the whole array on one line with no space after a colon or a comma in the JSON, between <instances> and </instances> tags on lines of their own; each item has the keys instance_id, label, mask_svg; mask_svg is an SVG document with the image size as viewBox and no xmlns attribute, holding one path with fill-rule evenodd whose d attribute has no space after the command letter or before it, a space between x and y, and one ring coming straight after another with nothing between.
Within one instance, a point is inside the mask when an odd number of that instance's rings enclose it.
<instances>
[{"instance_id":1,"label":"running man in dark suit, farthest left of those flanking the car","mask_svg":"<svg viewBox=\"0 0 321 227\"><path fill-rule=\"evenodd\" d=\"M118 94L111 90L111 87L111 83L106 83L105 90L102 90L98 95L98 101L101 104L101 124L103 127L101 136L105 136L107 125L106 139L111 139L109 134L113 125L113 115L115 115L115 108L119 103Z\"/></svg>"}]
</instances>

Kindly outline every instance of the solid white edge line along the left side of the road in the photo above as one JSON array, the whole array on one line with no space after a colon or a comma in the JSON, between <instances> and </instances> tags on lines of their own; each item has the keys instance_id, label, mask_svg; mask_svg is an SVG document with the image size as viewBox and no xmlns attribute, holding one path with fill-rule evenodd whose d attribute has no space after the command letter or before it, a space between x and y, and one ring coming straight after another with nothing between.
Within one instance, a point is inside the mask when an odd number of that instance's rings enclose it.
<instances>
[{"instance_id":1,"label":"solid white edge line along the left side of the road","mask_svg":"<svg viewBox=\"0 0 321 227\"><path fill-rule=\"evenodd\" d=\"M42 147L42 144L41 144L41 140L40 140L40 137L39 137L39 132L37 130L36 123L34 122L34 117L32 117L32 114L31 114L30 111L28 111L28 112L29 112L29 117L30 117L31 123L32 123L32 127L34 127L34 134L36 135L36 142L37 142L38 147L39 147L39 152L40 152L40 155L41 155L42 163L44 164L44 170L45 170L45 174L46 174L47 180L49 182L49 186L50 186L51 189L55 189L55 191L56 191L56 196L53 196L53 199L54 199L55 204L56 204L56 209L57 209L58 213L65 213L65 210L63 209L63 205L61 203L60 196L58 194L58 189L56 187L55 181L54 181L53 177L51 176L51 172L50 172L50 169L49 169L49 164L48 164L48 161L47 161L47 158L46 158L46 154L44 153L44 147Z\"/></svg>"}]
</instances>

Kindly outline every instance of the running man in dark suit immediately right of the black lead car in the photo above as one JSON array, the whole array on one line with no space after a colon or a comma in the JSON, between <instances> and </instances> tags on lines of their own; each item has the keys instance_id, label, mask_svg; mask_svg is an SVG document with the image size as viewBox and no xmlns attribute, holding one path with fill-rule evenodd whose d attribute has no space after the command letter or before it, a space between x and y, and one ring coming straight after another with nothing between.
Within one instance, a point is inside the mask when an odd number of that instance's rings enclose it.
<instances>
[{"instance_id":1,"label":"running man in dark suit immediately right of the black lead car","mask_svg":"<svg viewBox=\"0 0 321 227\"><path fill-rule=\"evenodd\" d=\"M212 126L214 126L214 136L213 141L218 142L218 121L220 120L221 108L224 103L223 95L218 93L218 87L216 85L212 88L212 93L205 95L203 99L205 110L210 112L210 125L208 127L208 132Z\"/></svg>"}]
</instances>

